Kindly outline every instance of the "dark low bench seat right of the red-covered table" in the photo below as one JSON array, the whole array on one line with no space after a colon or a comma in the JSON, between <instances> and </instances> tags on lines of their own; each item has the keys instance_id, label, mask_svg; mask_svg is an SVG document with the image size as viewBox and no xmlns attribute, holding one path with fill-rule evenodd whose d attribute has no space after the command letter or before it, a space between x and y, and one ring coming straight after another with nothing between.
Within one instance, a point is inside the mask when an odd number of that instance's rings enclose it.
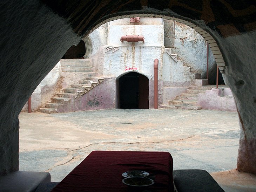
<instances>
[{"instance_id":1,"label":"dark low bench seat right of the red-covered table","mask_svg":"<svg viewBox=\"0 0 256 192\"><path fill-rule=\"evenodd\" d=\"M173 181L178 192L224 192L206 170L174 170Z\"/></svg>"}]
</instances>

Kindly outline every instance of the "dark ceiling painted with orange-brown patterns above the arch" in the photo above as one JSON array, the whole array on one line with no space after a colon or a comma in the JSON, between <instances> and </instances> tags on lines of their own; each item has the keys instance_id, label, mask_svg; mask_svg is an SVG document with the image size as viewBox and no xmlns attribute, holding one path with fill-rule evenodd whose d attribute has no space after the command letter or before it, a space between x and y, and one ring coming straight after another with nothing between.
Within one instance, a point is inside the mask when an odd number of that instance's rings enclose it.
<instances>
[{"instance_id":1,"label":"dark ceiling painted with orange-brown patterns above the arch","mask_svg":"<svg viewBox=\"0 0 256 192\"><path fill-rule=\"evenodd\" d=\"M190 19L204 20L221 36L256 29L255 0L42 0L55 13L72 24L75 33L83 35L106 15L142 10L143 6L171 11ZM156 10L156 11L157 11Z\"/></svg>"}]
</instances>

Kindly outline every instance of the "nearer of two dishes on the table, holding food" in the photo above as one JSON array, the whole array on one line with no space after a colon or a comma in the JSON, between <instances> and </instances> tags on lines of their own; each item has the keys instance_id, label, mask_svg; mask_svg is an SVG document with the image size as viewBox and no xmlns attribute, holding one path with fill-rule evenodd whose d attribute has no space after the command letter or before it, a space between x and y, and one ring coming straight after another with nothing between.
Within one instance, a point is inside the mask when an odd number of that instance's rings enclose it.
<instances>
[{"instance_id":1,"label":"nearer of two dishes on the table, holding food","mask_svg":"<svg viewBox=\"0 0 256 192\"><path fill-rule=\"evenodd\" d=\"M155 182L147 177L127 177L122 182L132 187L147 187L153 185Z\"/></svg>"}]
</instances>

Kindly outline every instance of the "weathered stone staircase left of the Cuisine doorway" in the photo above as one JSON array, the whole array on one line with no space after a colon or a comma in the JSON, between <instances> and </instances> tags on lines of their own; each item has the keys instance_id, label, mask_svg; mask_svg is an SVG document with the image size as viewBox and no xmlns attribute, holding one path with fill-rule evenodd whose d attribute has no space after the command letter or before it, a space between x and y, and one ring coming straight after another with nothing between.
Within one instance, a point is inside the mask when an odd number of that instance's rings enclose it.
<instances>
[{"instance_id":1,"label":"weathered stone staircase left of the Cuisine doorway","mask_svg":"<svg viewBox=\"0 0 256 192\"><path fill-rule=\"evenodd\" d=\"M54 94L50 101L45 103L45 108L40 108L43 113L75 111L72 105L76 100L104 81L103 77L96 76L90 59L61 60L60 62L61 76L68 79L67 82L62 82L66 88ZM71 84L65 86L68 83Z\"/></svg>"}]
</instances>

